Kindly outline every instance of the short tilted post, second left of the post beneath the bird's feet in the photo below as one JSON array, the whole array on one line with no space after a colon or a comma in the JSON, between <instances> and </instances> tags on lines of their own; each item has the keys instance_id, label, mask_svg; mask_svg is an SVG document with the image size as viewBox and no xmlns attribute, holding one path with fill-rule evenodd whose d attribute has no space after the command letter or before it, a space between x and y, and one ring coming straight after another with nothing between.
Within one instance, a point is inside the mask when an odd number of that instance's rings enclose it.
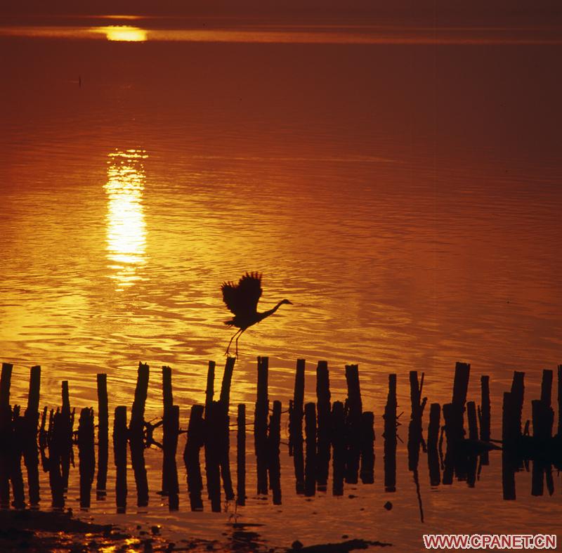
<instances>
[{"instance_id":1,"label":"short tilted post, second left of the post beneath the bird's feet","mask_svg":"<svg viewBox=\"0 0 562 553\"><path fill-rule=\"evenodd\" d=\"M203 510L200 449L205 440L204 436L203 405L192 405L188 425L188 441L185 443L185 450L183 450L183 462L188 473L188 492L192 511Z\"/></svg>"}]
</instances>

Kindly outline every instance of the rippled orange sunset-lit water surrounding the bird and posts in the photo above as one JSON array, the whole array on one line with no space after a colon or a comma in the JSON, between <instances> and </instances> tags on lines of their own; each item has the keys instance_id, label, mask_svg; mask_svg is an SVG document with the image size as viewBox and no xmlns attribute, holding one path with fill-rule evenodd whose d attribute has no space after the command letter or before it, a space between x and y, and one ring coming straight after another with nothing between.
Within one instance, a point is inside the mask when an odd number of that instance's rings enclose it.
<instances>
[{"instance_id":1,"label":"rippled orange sunset-lit water surrounding the bird and posts","mask_svg":"<svg viewBox=\"0 0 562 553\"><path fill-rule=\"evenodd\" d=\"M245 271L263 272L261 309L294 305L240 339L233 403L254 401L258 355L284 405L296 358L327 359L339 398L344 364L359 363L377 435L389 372L402 405L412 369L442 402L455 361L471 363L469 398L490 375L496 436L513 370L537 397L540 371L562 358L556 29L47 23L0 30L0 351L15 364L14 401L40 364L41 404L58 404L69 379L72 405L95 405L103 371L112 412L130 405L143 360L156 375L174 367L185 419L232 335L221 282ZM132 30L108 35L122 23ZM428 485L423 528L431 517L475 528L459 509L483 508L485 493L507 530L538 531L559 490L507 504L499 468L497 457L476 493ZM399 485L400 507L379 514L388 495L375 487L359 495L377 516L356 528L419 547L421 526L403 535L413 488ZM337 538L285 497L296 535ZM342 521L355 520L351 504ZM332 502L314 509L326 519ZM379 535L386 519L393 539ZM284 524L263 532L284 540Z\"/></svg>"}]
</instances>

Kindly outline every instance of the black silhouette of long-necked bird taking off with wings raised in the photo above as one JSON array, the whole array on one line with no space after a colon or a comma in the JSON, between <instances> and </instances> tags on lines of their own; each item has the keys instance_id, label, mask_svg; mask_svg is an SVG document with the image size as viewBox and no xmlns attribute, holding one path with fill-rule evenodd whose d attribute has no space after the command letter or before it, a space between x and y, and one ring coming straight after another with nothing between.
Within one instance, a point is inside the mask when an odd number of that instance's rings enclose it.
<instances>
[{"instance_id":1,"label":"black silhouette of long-necked bird taking off with wings raised","mask_svg":"<svg viewBox=\"0 0 562 553\"><path fill-rule=\"evenodd\" d=\"M228 342L226 355L230 351L230 345L236 338L236 357L238 357L238 339L242 332L251 325L259 323L261 320L273 315L283 304L292 305L288 299L282 299L275 307L263 313L258 313L258 301L261 297L261 274L246 273L240 278L238 284L234 282L223 282L221 285L223 301L226 306L234 313L234 317L225 321L229 327L237 327L236 334Z\"/></svg>"}]
</instances>

